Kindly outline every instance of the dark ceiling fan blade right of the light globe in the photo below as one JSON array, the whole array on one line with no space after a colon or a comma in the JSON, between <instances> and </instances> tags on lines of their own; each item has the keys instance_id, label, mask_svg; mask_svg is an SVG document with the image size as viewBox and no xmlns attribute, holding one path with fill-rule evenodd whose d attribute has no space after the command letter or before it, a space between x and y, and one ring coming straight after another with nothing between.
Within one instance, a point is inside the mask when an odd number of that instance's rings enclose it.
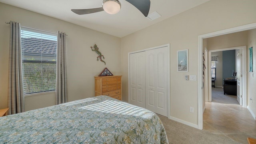
<instances>
[{"instance_id":1,"label":"dark ceiling fan blade right of the light globe","mask_svg":"<svg viewBox=\"0 0 256 144\"><path fill-rule=\"evenodd\" d=\"M132 4L133 6L135 6L136 8L138 8L138 10L140 10L140 12L144 14L144 16L146 17L148 16L148 12L150 8L150 0L126 0L126 1Z\"/></svg>"}]
</instances>

